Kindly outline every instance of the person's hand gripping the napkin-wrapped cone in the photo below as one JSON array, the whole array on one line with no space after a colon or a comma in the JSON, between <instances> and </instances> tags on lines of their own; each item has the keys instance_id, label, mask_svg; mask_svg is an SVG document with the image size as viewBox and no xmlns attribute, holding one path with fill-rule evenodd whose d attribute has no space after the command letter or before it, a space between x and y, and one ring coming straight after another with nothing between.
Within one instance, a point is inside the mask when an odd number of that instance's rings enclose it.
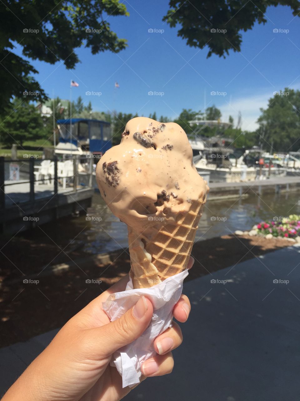
<instances>
[{"instance_id":1,"label":"person's hand gripping the napkin-wrapped cone","mask_svg":"<svg viewBox=\"0 0 300 401\"><path fill-rule=\"evenodd\" d=\"M192 267L191 258L188 268ZM145 297L120 319L110 322L102 309L110 294L124 291L128 275L71 318L48 347L32 362L8 390L2 401L117 401L131 390L122 388L122 377L110 366L112 354L138 338L148 327L153 306ZM182 295L173 314L185 322L190 302ZM174 360L172 350L182 342L177 323L154 340L157 355L142 365L141 381L146 377L170 373Z\"/></svg>"}]
</instances>

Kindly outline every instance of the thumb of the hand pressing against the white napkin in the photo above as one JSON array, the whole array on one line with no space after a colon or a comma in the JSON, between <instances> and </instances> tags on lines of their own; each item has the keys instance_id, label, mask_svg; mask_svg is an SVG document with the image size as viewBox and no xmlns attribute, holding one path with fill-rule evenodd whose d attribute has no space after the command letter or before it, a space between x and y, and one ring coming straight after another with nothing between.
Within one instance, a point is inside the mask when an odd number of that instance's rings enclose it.
<instances>
[{"instance_id":1,"label":"thumb of the hand pressing against the white napkin","mask_svg":"<svg viewBox=\"0 0 300 401\"><path fill-rule=\"evenodd\" d=\"M93 353L106 358L113 352L136 340L149 326L153 306L148 298L140 297L138 302L123 316L105 326L87 330L87 337Z\"/></svg>"}]
</instances>

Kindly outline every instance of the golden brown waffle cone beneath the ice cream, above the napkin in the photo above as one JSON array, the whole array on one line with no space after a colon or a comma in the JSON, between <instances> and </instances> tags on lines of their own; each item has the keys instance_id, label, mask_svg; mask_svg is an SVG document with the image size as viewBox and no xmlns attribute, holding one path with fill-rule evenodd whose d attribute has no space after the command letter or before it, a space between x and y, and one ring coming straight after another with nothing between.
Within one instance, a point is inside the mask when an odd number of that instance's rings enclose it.
<instances>
[{"instance_id":1,"label":"golden brown waffle cone beneath the ice cream, above the napkin","mask_svg":"<svg viewBox=\"0 0 300 401\"><path fill-rule=\"evenodd\" d=\"M134 288L152 287L186 269L203 206L202 199L192 202L188 213L179 214L176 223L162 225L151 241L128 227Z\"/></svg>"}]
</instances>

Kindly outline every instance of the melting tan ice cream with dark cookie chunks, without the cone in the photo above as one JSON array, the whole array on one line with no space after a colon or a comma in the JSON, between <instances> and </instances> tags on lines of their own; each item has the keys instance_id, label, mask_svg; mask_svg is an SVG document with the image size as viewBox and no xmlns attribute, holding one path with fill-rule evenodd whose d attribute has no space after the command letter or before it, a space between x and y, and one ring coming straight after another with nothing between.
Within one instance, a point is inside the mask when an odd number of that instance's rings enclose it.
<instances>
[{"instance_id":1,"label":"melting tan ice cream with dark cookie chunks, without the cone","mask_svg":"<svg viewBox=\"0 0 300 401\"><path fill-rule=\"evenodd\" d=\"M148 239L193 201L204 203L208 190L184 130L146 117L126 124L121 143L98 162L96 180L112 213Z\"/></svg>"}]
</instances>

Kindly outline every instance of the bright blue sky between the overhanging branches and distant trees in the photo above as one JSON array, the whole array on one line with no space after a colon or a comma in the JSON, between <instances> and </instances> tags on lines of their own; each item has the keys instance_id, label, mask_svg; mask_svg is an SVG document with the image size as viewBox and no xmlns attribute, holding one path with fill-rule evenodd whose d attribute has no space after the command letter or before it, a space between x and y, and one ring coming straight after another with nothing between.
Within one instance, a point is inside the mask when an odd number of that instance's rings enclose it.
<instances>
[{"instance_id":1,"label":"bright blue sky between the overhanging branches and distant trees","mask_svg":"<svg viewBox=\"0 0 300 401\"><path fill-rule=\"evenodd\" d=\"M216 55L206 59L208 47L188 47L177 37L176 28L162 22L167 0L152 0L151 6L140 0L125 0L124 4L129 17L108 17L112 30L128 39L128 48L118 55L92 55L89 49L77 49L81 63L71 71L61 62L31 61L50 97L54 93L68 99L74 79L79 87L72 89L73 98L81 95L86 104L92 101L94 110L146 116L156 111L158 117L175 118L183 108L203 110L215 104L222 120L228 121L231 114L236 122L240 110L242 128L253 130L260 107L266 107L274 91L300 88L300 18L294 18L288 7L269 7L264 26L256 24L243 32L241 53L230 51L226 59ZM148 32L151 28L164 32ZM114 89L115 81L119 89ZM86 91L102 94L88 96ZM149 91L164 94L148 95ZM212 91L223 95L211 95Z\"/></svg>"}]
</instances>

